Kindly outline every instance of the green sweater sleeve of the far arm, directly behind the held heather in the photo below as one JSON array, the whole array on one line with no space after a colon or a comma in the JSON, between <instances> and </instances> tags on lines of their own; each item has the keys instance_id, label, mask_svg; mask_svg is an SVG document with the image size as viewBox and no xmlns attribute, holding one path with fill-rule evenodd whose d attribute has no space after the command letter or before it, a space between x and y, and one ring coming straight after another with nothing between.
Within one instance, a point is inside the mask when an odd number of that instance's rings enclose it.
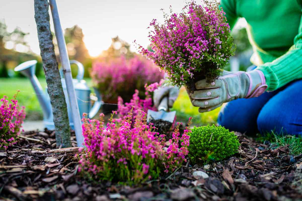
<instances>
[{"instance_id":1,"label":"green sweater sleeve of the far arm, directly behind the held heather","mask_svg":"<svg viewBox=\"0 0 302 201\"><path fill-rule=\"evenodd\" d=\"M221 0L220 7L222 7L225 12L227 23L229 23L232 30L238 20L238 15L236 14L236 0Z\"/></svg>"}]
</instances>

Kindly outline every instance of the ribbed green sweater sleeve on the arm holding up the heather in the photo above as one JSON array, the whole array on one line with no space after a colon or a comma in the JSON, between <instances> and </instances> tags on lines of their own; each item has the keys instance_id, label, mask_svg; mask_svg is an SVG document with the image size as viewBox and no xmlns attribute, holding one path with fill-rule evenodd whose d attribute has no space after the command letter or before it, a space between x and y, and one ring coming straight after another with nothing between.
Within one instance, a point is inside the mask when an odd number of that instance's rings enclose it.
<instances>
[{"instance_id":1,"label":"ribbed green sweater sleeve on the arm holding up the heather","mask_svg":"<svg viewBox=\"0 0 302 201\"><path fill-rule=\"evenodd\" d=\"M294 45L287 53L272 62L257 67L265 76L267 90L276 90L285 84L302 78L302 17Z\"/></svg>"}]
</instances>

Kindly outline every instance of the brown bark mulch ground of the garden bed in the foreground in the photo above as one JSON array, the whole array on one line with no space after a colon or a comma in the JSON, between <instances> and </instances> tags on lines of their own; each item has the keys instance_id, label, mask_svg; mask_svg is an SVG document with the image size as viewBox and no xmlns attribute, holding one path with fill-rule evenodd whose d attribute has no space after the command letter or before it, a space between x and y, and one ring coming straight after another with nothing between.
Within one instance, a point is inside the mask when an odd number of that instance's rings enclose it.
<instances>
[{"instance_id":1,"label":"brown bark mulch ground of the garden bed in the foreground","mask_svg":"<svg viewBox=\"0 0 302 201\"><path fill-rule=\"evenodd\" d=\"M0 152L0 199L302 199L302 155L291 156L287 146L271 150L268 143L236 135L241 145L233 157L209 165L192 166L188 162L173 174L163 173L158 180L129 187L109 181L86 181L77 171L78 148L53 150L53 131L25 132L15 146ZM74 133L72 142L76 146Z\"/></svg>"}]
</instances>

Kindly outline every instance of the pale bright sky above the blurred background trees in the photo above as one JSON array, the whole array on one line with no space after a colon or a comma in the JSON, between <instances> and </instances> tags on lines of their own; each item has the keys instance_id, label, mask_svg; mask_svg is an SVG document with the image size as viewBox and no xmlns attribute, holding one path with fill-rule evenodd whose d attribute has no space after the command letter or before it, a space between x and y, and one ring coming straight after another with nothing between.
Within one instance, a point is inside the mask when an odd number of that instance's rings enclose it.
<instances>
[{"instance_id":1,"label":"pale bright sky above the blurred background trees","mask_svg":"<svg viewBox=\"0 0 302 201\"><path fill-rule=\"evenodd\" d=\"M4 2L4 0L1 0ZM4 19L8 31L20 27L22 31L30 33L25 40L31 50L40 54L37 27L34 20L33 0L11 0L1 3L0 19ZM57 6L64 29L79 25L84 34L84 42L91 56L101 54L108 49L111 38L120 39L132 44L134 40L146 47L149 45L149 23L153 18L163 22L161 8L169 12L172 5L174 12L180 12L185 5L184 0L57 0ZM198 1L197 1L198 2ZM50 13L50 25L53 31L53 22ZM246 22L240 20L239 27ZM134 45L132 51L136 51ZM20 49L22 51L22 49Z\"/></svg>"}]
</instances>

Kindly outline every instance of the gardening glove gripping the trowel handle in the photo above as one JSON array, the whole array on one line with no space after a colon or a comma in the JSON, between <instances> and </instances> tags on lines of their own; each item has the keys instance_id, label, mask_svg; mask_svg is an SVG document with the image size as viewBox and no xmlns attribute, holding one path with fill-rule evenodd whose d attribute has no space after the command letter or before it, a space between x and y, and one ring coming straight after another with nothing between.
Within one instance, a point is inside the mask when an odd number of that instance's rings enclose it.
<instances>
[{"instance_id":1,"label":"gardening glove gripping the trowel handle","mask_svg":"<svg viewBox=\"0 0 302 201\"><path fill-rule=\"evenodd\" d=\"M172 108L175 100L179 94L179 89L177 86L162 86L154 90L153 102L156 108L158 108L160 101L163 97L168 96L168 106Z\"/></svg>"}]
</instances>

